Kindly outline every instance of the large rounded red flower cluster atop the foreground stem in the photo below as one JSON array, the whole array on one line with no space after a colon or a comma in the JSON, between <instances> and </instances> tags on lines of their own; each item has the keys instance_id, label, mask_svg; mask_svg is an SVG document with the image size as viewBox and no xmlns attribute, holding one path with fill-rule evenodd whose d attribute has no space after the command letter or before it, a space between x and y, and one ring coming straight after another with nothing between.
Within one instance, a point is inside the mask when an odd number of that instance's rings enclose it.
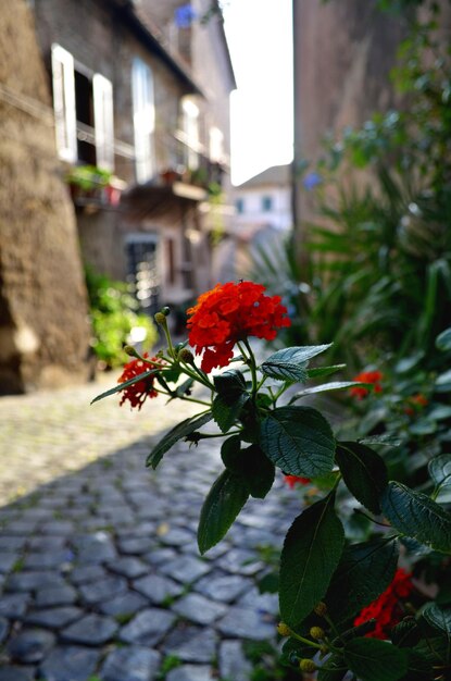
<instances>
[{"instance_id":1,"label":"large rounded red flower cluster atop the foreground stem","mask_svg":"<svg viewBox=\"0 0 451 681\"><path fill-rule=\"evenodd\" d=\"M203 350L203 371L227 367L238 340L248 336L273 340L277 329L291 324L280 297L265 296L264 290L264 286L252 282L217 284L187 310L189 343L197 355Z\"/></svg>"}]
</instances>

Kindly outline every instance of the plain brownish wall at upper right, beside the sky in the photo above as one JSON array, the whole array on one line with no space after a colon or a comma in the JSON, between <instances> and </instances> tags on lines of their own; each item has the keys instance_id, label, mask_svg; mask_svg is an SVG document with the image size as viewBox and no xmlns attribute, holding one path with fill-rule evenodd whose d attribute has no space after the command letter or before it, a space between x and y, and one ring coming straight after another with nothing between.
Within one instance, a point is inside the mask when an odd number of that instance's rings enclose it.
<instances>
[{"instance_id":1,"label":"plain brownish wall at upper right, beside the sky","mask_svg":"<svg viewBox=\"0 0 451 681\"><path fill-rule=\"evenodd\" d=\"M442 39L449 41L451 5L439 2ZM428 18L426 7L421 18ZM402 107L390 72L406 32L405 18L381 12L377 0L293 0L293 208L300 252L301 222L312 219L312 205L296 169L318 158L326 135L339 138L346 126L359 127L376 111Z\"/></svg>"}]
</instances>

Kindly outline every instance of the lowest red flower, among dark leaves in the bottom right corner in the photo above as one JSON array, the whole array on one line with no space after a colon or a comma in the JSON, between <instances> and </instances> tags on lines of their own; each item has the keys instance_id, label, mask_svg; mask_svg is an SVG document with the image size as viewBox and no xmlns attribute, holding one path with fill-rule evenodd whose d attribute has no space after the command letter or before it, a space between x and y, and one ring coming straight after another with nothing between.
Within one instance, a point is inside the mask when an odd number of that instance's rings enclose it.
<instances>
[{"instance_id":1,"label":"lowest red flower, among dark leaves in the bottom right corner","mask_svg":"<svg viewBox=\"0 0 451 681\"><path fill-rule=\"evenodd\" d=\"M388 639L391 629L403 616L401 599L408 598L413 591L411 574L402 568L396 571L393 581L376 600L367 605L354 620L354 627L376 620L376 628L366 635L372 639Z\"/></svg>"}]
</instances>

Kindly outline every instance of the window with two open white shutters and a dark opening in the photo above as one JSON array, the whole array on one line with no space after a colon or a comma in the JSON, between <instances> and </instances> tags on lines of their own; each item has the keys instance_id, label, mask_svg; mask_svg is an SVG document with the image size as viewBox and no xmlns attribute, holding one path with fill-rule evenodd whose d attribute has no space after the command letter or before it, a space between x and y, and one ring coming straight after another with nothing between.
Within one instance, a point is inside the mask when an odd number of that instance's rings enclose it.
<instances>
[{"instance_id":1,"label":"window with two open white shutters and a dark opening","mask_svg":"<svg viewBox=\"0 0 451 681\"><path fill-rule=\"evenodd\" d=\"M113 87L52 46L53 108L60 158L114 169Z\"/></svg>"}]
</instances>

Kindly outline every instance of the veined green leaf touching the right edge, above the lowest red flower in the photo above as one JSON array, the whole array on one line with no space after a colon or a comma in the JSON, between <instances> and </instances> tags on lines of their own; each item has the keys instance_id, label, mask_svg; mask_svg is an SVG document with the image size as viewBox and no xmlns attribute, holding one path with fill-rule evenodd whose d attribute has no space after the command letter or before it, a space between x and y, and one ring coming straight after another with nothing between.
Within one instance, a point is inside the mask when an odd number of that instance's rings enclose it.
<instances>
[{"instance_id":1,"label":"veined green leaf touching the right edge, above the lowest red flower","mask_svg":"<svg viewBox=\"0 0 451 681\"><path fill-rule=\"evenodd\" d=\"M400 482L389 482L380 505L399 532L436 550L451 553L451 516L428 496Z\"/></svg>"}]
</instances>

